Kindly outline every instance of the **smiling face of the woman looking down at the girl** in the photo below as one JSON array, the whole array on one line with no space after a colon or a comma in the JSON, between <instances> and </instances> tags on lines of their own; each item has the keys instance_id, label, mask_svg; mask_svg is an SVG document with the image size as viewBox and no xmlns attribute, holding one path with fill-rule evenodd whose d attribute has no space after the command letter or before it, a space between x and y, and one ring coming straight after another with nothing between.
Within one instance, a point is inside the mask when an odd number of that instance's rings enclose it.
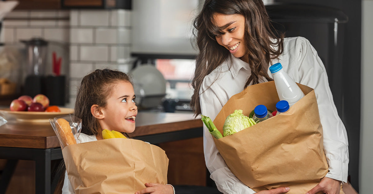
<instances>
[{"instance_id":1,"label":"smiling face of the woman looking down at the girl","mask_svg":"<svg viewBox=\"0 0 373 194\"><path fill-rule=\"evenodd\" d=\"M224 46L236 58L241 58L246 54L246 45L244 42L245 17L239 14L225 15L221 13L214 14L215 25L223 28L223 35L217 35L216 41Z\"/></svg>"}]
</instances>

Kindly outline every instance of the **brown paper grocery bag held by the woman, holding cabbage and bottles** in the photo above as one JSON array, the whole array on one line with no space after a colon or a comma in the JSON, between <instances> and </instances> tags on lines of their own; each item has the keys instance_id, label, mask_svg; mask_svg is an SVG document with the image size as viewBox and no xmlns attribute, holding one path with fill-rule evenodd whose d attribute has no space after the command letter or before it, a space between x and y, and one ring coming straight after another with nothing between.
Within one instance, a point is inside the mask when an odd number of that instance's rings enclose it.
<instances>
[{"instance_id":1,"label":"brown paper grocery bag held by the woman, holding cabbage and bottles","mask_svg":"<svg viewBox=\"0 0 373 194\"><path fill-rule=\"evenodd\" d=\"M288 194L304 194L328 172L315 93L298 85L306 95L288 112L233 135L213 138L232 173L254 191L288 186ZM251 85L228 100L214 125L223 133L225 119L234 110L241 109L248 116L259 104L276 110L278 101L273 81Z\"/></svg>"}]
</instances>

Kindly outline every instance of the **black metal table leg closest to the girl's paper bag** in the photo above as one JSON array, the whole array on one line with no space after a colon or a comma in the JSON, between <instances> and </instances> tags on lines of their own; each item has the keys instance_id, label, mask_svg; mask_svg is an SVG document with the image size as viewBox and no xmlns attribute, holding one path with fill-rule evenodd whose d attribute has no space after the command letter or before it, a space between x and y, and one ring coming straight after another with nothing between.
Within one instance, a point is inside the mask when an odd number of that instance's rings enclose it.
<instances>
[{"instance_id":1,"label":"black metal table leg closest to the girl's paper bag","mask_svg":"<svg viewBox=\"0 0 373 194\"><path fill-rule=\"evenodd\" d=\"M40 154L40 156L35 160L35 193L50 194L51 151L50 149L45 149L38 154Z\"/></svg>"}]
</instances>

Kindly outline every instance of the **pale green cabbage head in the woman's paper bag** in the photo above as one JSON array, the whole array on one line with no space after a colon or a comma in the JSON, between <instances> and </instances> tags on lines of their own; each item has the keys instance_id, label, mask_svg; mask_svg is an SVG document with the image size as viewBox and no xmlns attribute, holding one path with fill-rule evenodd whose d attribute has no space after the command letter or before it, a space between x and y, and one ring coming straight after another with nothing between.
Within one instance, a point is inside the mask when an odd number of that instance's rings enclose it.
<instances>
[{"instance_id":1,"label":"pale green cabbage head in the woman's paper bag","mask_svg":"<svg viewBox=\"0 0 373 194\"><path fill-rule=\"evenodd\" d=\"M252 118L242 114L242 110L235 110L234 113L229 114L225 119L223 136L232 135L255 124L256 122Z\"/></svg>"}]
</instances>

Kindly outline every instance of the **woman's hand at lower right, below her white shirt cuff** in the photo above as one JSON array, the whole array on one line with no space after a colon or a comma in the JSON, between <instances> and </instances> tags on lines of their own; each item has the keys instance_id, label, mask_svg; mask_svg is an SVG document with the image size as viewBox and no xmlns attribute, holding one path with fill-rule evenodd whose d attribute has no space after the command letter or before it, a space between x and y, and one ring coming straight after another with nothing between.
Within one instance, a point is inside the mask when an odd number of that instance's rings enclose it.
<instances>
[{"instance_id":1,"label":"woman's hand at lower right, below her white shirt cuff","mask_svg":"<svg viewBox=\"0 0 373 194\"><path fill-rule=\"evenodd\" d=\"M339 191L341 191L341 181L324 177L316 187L309 190L306 194L316 194L320 191L326 194L339 194Z\"/></svg>"}]
</instances>

